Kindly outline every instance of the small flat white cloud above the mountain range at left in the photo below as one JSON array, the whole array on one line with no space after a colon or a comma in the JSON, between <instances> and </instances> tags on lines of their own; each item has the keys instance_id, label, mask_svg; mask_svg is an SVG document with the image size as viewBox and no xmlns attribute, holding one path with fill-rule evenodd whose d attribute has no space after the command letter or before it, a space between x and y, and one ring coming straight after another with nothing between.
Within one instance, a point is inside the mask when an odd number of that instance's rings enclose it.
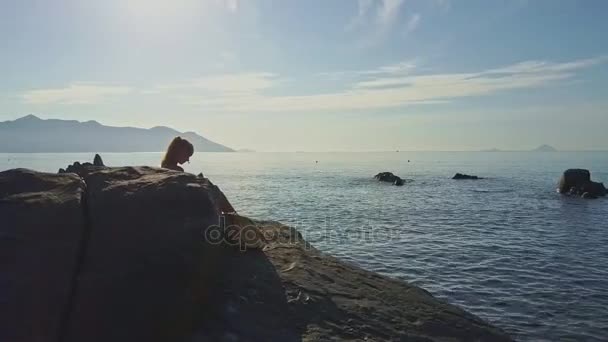
<instances>
[{"instance_id":1,"label":"small flat white cloud above the mountain range at left","mask_svg":"<svg viewBox=\"0 0 608 342\"><path fill-rule=\"evenodd\" d=\"M130 87L125 86L72 83L62 88L26 91L22 94L22 99L30 104L95 104L131 91Z\"/></svg>"}]
</instances>

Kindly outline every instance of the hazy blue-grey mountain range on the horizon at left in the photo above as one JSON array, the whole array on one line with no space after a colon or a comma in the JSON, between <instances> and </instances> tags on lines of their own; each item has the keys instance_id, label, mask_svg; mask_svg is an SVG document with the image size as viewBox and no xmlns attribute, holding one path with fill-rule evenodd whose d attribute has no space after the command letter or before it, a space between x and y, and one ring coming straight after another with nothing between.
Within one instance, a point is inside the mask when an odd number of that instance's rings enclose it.
<instances>
[{"instance_id":1,"label":"hazy blue-grey mountain range on the horizon at left","mask_svg":"<svg viewBox=\"0 0 608 342\"><path fill-rule=\"evenodd\" d=\"M34 115L0 122L0 152L161 152L181 136L199 152L234 152L194 132L104 126L97 121L43 120Z\"/></svg>"}]
</instances>

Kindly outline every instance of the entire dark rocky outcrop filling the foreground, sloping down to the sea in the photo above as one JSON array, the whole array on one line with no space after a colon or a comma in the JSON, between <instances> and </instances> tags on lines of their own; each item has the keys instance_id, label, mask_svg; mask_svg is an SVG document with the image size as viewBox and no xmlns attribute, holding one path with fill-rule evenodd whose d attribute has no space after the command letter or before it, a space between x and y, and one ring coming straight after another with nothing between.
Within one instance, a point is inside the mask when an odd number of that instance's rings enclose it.
<instances>
[{"instance_id":1,"label":"entire dark rocky outcrop filling the foreground, sloping down to the sea","mask_svg":"<svg viewBox=\"0 0 608 342\"><path fill-rule=\"evenodd\" d=\"M0 253L17 260L0 264L0 340L510 340L224 201L208 179L150 167L0 173Z\"/></svg>"}]
</instances>

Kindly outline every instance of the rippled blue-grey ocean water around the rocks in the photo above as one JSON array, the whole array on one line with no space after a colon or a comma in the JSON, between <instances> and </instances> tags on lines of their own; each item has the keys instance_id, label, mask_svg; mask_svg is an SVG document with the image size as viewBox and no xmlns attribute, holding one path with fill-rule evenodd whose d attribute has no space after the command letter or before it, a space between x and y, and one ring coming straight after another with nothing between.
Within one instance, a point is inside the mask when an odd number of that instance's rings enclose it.
<instances>
[{"instance_id":1,"label":"rippled blue-grey ocean water around the rocks","mask_svg":"<svg viewBox=\"0 0 608 342\"><path fill-rule=\"evenodd\" d=\"M160 153L102 154L157 165ZM93 154L0 154L0 170L56 172ZM603 152L197 153L242 214L407 280L522 341L608 340L608 198L556 193L567 168L608 183ZM408 161L409 160L409 161ZM372 176L391 171L403 187ZM487 177L455 181L456 172Z\"/></svg>"}]
</instances>

